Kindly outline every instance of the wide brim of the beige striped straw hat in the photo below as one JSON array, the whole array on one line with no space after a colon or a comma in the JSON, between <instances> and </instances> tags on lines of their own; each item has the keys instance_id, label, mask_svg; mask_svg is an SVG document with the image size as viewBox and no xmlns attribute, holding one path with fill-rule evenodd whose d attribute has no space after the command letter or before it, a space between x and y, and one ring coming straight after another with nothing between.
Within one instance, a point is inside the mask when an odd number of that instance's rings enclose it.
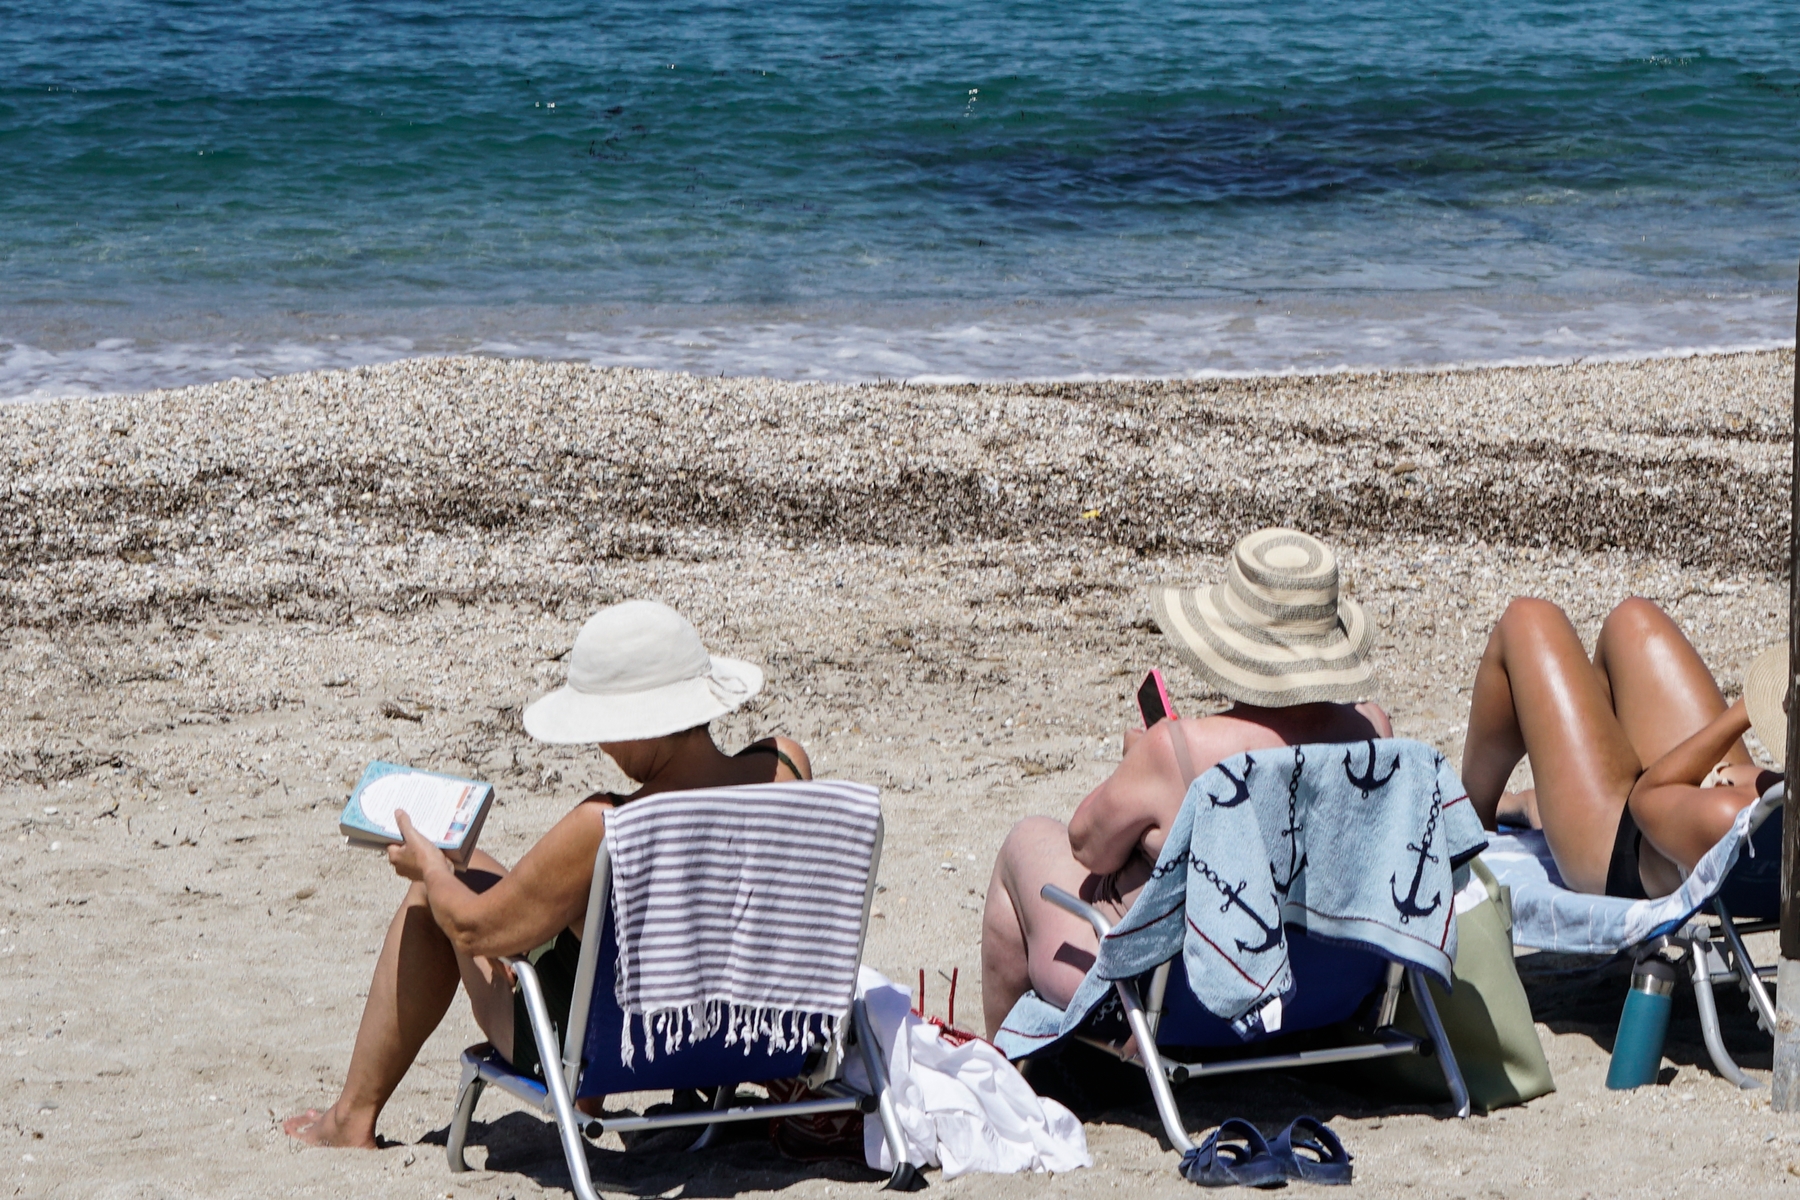
<instances>
[{"instance_id":1,"label":"wide brim of the beige striped straw hat","mask_svg":"<svg viewBox=\"0 0 1800 1200\"><path fill-rule=\"evenodd\" d=\"M1337 597L1330 630L1294 637L1235 621L1224 588L1150 588L1157 628L1217 693L1265 709L1368 698L1375 630L1361 604Z\"/></svg>"}]
</instances>

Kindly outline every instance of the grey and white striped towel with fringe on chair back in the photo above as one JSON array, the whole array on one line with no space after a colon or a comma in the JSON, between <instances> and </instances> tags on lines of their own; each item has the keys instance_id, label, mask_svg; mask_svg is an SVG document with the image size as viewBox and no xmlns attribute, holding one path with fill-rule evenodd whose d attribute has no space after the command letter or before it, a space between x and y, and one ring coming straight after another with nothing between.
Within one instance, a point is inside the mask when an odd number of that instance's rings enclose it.
<instances>
[{"instance_id":1,"label":"grey and white striped towel with fringe on chair back","mask_svg":"<svg viewBox=\"0 0 1800 1200\"><path fill-rule=\"evenodd\" d=\"M859 783L666 792L607 819L621 1061L725 1031L770 1054L835 1043L862 950L880 795ZM634 1020L635 1018L635 1020Z\"/></svg>"}]
</instances>

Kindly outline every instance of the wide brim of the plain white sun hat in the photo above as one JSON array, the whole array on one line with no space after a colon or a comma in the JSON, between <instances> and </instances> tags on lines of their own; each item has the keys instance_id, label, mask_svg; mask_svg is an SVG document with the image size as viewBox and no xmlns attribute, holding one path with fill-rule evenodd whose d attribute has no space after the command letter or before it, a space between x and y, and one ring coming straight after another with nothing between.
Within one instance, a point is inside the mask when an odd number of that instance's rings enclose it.
<instances>
[{"instance_id":1,"label":"wide brim of the plain white sun hat","mask_svg":"<svg viewBox=\"0 0 1800 1200\"><path fill-rule=\"evenodd\" d=\"M709 675L630 693L558 687L529 703L526 732L556 745L641 741L679 734L736 711L763 689L761 667L713 655Z\"/></svg>"}]
</instances>

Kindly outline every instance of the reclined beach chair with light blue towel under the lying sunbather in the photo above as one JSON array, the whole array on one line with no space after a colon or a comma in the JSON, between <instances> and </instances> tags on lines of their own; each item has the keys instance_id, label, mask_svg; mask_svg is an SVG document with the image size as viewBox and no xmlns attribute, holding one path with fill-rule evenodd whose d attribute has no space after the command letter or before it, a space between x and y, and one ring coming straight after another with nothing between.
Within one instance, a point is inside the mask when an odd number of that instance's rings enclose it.
<instances>
[{"instance_id":1,"label":"reclined beach chair with light blue towel under the lying sunbather","mask_svg":"<svg viewBox=\"0 0 1800 1200\"><path fill-rule=\"evenodd\" d=\"M1780 918L1782 822L1787 784L1777 783L1737 813L1732 829L1694 865L1681 887L1660 900L1591 896L1562 885L1543 829L1494 837L1481 860L1512 900L1512 941L1532 950L1611 959L1679 955L1694 990L1706 1054L1741 1088L1762 1087L1737 1065L1719 1031L1714 990L1735 982L1757 1024L1775 1034L1775 999L1744 937L1773 930Z\"/></svg>"}]
</instances>

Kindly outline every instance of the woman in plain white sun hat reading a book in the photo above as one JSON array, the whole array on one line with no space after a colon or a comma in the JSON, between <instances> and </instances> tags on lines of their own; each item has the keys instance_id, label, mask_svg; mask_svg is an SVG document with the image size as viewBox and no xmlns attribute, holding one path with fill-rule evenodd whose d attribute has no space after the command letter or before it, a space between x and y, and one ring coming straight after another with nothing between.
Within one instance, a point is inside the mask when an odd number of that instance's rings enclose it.
<instances>
[{"instance_id":1,"label":"woman in plain white sun hat reading a book","mask_svg":"<svg viewBox=\"0 0 1800 1200\"><path fill-rule=\"evenodd\" d=\"M569 684L526 709L526 730L538 741L598 743L641 786L630 795L587 797L511 871L481 851L466 871L455 871L400 813L405 844L389 847L387 858L412 885L382 943L344 1090L329 1108L308 1108L283 1128L315 1146L374 1148L382 1106L445 1018L459 982L493 1047L533 1070L536 1047L524 1002L500 959L542 948L533 961L545 1000L558 1022L565 1018L607 811L657 792L812 777L806 752L787 738L734 756L713 743L709 721L761 685L758 667L707 655L695 628L655 601L612 604L581 626Z\"/></svg>"}]
</instances>

